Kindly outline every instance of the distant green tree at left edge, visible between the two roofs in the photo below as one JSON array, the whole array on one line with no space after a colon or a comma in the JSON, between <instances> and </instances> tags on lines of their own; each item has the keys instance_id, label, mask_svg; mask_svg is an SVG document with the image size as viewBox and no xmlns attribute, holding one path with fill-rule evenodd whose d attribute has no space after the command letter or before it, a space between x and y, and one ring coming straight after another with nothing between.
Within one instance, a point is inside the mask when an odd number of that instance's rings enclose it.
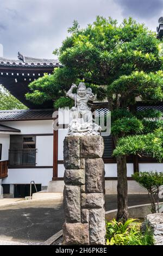
<instances>
[{"instance_id":1,"label":"distant green tree at left edge, visible between the two roofs","mask_svg":"<svg viewBox=\"0 0 163 256\"><path fill-rule=\"evenodd\" d=\"M10 92L3 86L0 86L0 109L27 109L19 100L16 99Z\"/></svg>"}]
</instances>

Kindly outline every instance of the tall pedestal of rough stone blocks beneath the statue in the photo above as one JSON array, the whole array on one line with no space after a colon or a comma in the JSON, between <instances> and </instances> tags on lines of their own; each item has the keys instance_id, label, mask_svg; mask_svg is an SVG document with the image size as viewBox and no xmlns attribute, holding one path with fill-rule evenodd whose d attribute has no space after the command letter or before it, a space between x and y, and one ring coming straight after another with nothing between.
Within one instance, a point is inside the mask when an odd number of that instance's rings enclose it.
<instances>
[{"instance_id":1,"label":"tall pedestal of rough stone blocks beneath the statue","mask_svg":"<svg viewBox=\"0 0 163 256\"><path fill-rule=\"evenodd\" d=\"M104 245L105 180L101 136L64 140L65 245Z\"/></svg>"}]
</instances>

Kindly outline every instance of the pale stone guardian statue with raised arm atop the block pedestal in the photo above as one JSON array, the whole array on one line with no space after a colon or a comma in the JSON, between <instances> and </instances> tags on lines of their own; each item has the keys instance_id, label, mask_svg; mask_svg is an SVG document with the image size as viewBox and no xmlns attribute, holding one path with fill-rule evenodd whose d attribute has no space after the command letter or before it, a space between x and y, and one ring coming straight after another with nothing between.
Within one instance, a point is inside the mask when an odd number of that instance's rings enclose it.
<instances>
[{"instance_id":1,"label":"pale stone guardian statue with raised arm atop the block pedestal","mask_svg":"<svg viewBox=\"0 0 163 256\"><path fill-rule=\"evenodd\" d=\"M73 88L77 88L77 94L72 93ZM101 127L93 123L91 108L88 101L96 100L96 95L91 88L86 88L85 83L80 82L77 87L72 84L66 96L74 100L74 107L71 108L72 120L68 125L68 135L99 135Z\"/></svg>"}]
</instances>

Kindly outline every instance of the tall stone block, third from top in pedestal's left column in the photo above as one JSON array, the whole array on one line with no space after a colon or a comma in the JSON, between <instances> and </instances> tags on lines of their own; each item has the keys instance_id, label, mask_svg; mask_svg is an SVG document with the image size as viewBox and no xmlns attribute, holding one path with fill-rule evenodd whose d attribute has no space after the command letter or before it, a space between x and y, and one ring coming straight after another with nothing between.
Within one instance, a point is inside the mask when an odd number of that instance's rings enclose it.
<instances>
[{"instance_id":1,"label":"tall stone block, third from top in pedestal's left column","mask_svg":"<svg viewBox=\"0 0 163 256\"><path fill-rule=\"evenodd\" d=\"M64 212L66 222L80 222L80 186L65 185L64 188Z\"/></svg>"}]
</instances>

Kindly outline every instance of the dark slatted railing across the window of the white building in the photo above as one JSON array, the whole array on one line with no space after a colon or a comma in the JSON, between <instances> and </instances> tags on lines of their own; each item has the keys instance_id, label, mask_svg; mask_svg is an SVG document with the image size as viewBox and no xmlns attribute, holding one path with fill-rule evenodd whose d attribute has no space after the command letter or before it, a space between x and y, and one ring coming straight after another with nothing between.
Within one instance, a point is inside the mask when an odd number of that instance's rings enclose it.
<instances>
[{"instance_id":1,"label":"dark slatted railing across the window of the white building","mask_svg":"<svg viewBox=\"0 0 163 256\"><path fill-rule=\"evenodd\" d=\"M9 166L35 166L36 149L9 149Z\"/></svg>"}]
</instances>

